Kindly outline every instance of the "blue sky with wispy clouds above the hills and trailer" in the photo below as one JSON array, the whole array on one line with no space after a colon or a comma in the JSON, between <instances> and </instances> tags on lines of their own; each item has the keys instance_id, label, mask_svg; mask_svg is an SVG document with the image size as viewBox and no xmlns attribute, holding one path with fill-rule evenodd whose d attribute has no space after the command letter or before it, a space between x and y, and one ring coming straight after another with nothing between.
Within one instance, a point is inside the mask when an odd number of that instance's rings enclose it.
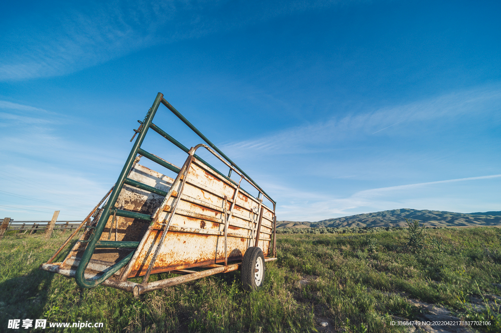
<instances>
[{"instance_id":1,"label":"blue sky with wispy clouds above the hills and trailer","mask_svg":"<svg viewBox=\"0 0 501 333\"><path fill-rule=\"evenodd\" d=\"M279 220L501 210L499 13L494 1L3 4L0 215L84 218L158 92ZM200 143L163 106L155 123ZM181 165L155 136L146 150Z\"/></svg>"}]
</instances>

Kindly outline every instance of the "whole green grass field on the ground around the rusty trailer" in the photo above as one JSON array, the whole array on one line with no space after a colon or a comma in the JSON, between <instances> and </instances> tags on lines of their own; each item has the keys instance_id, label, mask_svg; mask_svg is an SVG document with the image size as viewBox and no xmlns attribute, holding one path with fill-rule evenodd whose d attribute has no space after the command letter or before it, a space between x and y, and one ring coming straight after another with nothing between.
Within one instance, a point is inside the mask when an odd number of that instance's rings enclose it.
<instances>
[{"instance_id":1,"label":"whole green grass field on the ground around the rusty trailer","mask_svg":"<svg viewBox=\"0 0 501 333\"><path fill-rule=\"evenodd\" d=\"M64 237L11 234L0 242L0 331L28 318L104 323L58 332L396 332L410 326L392 321L430 320L440 309L501 332L501 230L420 229L414 242L407 228L280 234L278 260L267 263L258 292L244 292L235 271L139 299L39 270Z\"/></svg>"}]
</instances>

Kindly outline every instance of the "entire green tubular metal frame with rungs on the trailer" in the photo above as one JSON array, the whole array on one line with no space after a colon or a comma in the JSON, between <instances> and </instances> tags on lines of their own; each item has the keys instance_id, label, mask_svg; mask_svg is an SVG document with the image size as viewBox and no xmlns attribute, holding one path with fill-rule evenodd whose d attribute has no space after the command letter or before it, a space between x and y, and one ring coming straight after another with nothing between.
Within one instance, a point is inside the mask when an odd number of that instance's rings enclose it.
<instances>
[{"instance_id":1,"label":"entire green tubular metal frame with rungs on the trailer","mask_svg":"<svg viewBox=\"0 0 501 333\"><path fill-rule=\"evenodd\" d=\"M120 191L122 190L122 187L124 184L134 186L152 193L156 193L162 196L165 196L167 192L156 189L154 187L151 187L149 185L137 182L135 180L127 178L127 175L129 171L131 170L134 160L137 156L137 154L140 154L151 161L160 164L164 166L165 168L175 172L179 173L180 169L177 168L176 166L168 163L167 161L164 161L163 159L159 158L158 156L155 156L143 149L141 149L141 144L143 143L143 140L146 136L146 133L148 132L148 129L151 128L170 142L172 142L174 145L176 145L178 148L183 150L186 153L189 153L189 149L186 148L184 145L182 145L180 142L172 138L169 134L167 134L165 131L160 129L158 126L152 123L153 117L155 116L158 107L160 104L165 105L174 115L176 115L183 123L185 123L193 132L195 132L202 140L204 140L212 149L214 149L216 152L218 152L226 161L229 162L229 164L240 171L243 175L247 177L247 179L252 182L260 191L258 198L261 196L261 194L265 195L272 203L274 206L275 210L275 205L276 202L266 193L263 191L263 189L254 182L245 172L243 172L236 164L233 163L224 153L222 153L212 142L210 142L198 129L196 129L186 118L184 118L179 111L177 111L172 105L170 105L164 98L161 93L158 93L157 97L155 98L155 101L153 102L153 105L149 109L148 113L146 114L146 117L144 118L143 122L141 123L140 130L136 131L136 133L139 133L136 141L134 142L134 145L132 146L131 152L129 154L129 157L127 158L127 161L125 162L124 167L122 168L122 171L120 172L120 175L118 176L117 182L113 188L113 191L110 194L110 197L108 199L108 202L105 204L103 207L103 212L101 214L101 217L99 218L99 221L95 227L92 227L93 232L91 233L90 237L88 240L81 241L84 243L87 243L87 246L85 247L84 254L82 255L82 258L80 259L80 263L77 267L76 273L75 273L75 279L77 281L77 284L83 288L90 288L96 285L99 285L103 281L105 281L108 277L113 275L115 272L117 272L119 269L124 267L132 258L132 256L135 253L134 251L131 251L125 258L123 258L121 261L118 263L114 264L113 266L107 268L104 273L97 278L93 279L87 279L84 276L85 269L87 268L87 265L90 262L90 259L94 253L94 250L96 248L106 248L106 247L113 247L113 248L137 248L139 242L133 242L133 241L103 241L99 240L101 237L101 234L103 233L103 230L106 226L106 223L108 222L108 219L110 215L115 212L116 216L122 216L122 217L130 217L130 218L135 218L135 219L142 219L146 221L152 221L152 218L150 215L147 214L141 214L141 213L136 213L136 212L130 212L126 210L121 210L121 209L116 209L115 208L115 203L118 199L118 196L120 194ZM132 140L131 140L132 141ZM228 176L223 175L220 173L217 169L212 167L210 164L205 162L203 159L198 157L197 155L194 155L198 160L200 160L202 163L207 165L209 168L217 172L219 175L224 177L225 179L231 181L232 183L235 183L232 179L229 178L231 175L231 169L230 173ZM236 184L236 183L235 183ZM249 194L250 195L250 194Z\"/></svg>"}]
</instances>

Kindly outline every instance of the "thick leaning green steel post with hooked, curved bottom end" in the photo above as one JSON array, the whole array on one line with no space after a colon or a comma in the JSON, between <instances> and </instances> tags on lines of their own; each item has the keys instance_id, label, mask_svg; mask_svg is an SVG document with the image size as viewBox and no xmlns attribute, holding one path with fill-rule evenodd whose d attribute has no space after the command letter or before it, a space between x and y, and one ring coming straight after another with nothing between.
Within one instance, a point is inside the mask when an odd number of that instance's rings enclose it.
<instances>
[{"instance_id":1,"label":"thick leaning green steel post with hooked, curved bottom end","mask_svg":"<svg viewBox=\"0 0 501 333\"><path fill-rule=\"evenodd\" d=\"M124 185L125 178L127 177L127 174L132 167L132 164L134 163L134 159L136 158L137 155L137 150L143 143L144 137L146 136L146 132L150 128L151 122L153 120L153 117L155 116L155 113L158 109L158 106L161 103L161 100L163 98L163 95L161 93L158 93L157 97L155 98L155 102L153 102L153 105L151 106L151 109L148 111L146 114L146 118L144 119L144 125L139 133L139 136L136 139L136 142L132 146L132 150L130 151L129 157L127 158L127 161L125 162L125 165L122 169L122 172L120 173L120 176L118 177L118 180L116 182L115 188L113 189L113 192L111 192L110 198L108 199L108 203L105 205L103 208L103 214L101 215L101 218L99 219L99 222L97 223L96 229L94 230L94 233L91 235L91 240L85 247L84 254L82 255L82 259L80 260L80 264L78 265L77 271L75 272L75 280L77 281L77 284L82 287L82 288L90 288L93 286L96 286L100 283L102 283L104 280L106 280L108 277L110 277L114 272L122 268L127 264L127 262L130 260L132 257L132 254L134 252L131 252L127 257L122 259L122 261L116 263L115 265L111 266L107 272L101 277L97 279L91 279L88 280L84 276L85 269L87 268L87 265L89 264L89 261L92 257L92 254L94 253L94 249L96 248L96 243L101 237L101 234L103 233L104 227L106 226L106 222L108 221L108 218L110 217L110 208L115 206L115 202L117 201L118 195L120 194L120 191L122 190L122 186Z\"/></svg>"}]
</instances>

